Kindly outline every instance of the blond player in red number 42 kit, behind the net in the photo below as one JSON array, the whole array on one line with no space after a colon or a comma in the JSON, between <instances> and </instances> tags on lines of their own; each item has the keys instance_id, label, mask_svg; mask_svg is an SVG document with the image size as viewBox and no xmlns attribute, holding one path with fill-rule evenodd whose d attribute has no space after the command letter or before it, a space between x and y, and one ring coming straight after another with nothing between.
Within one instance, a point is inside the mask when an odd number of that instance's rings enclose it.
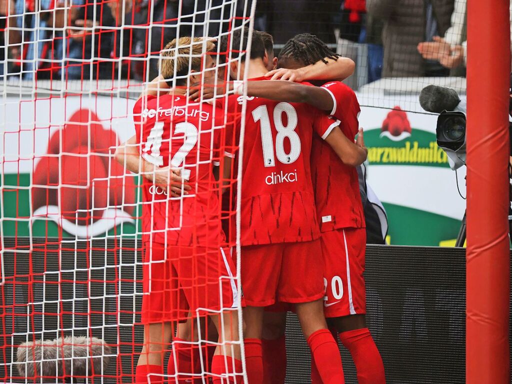
<instances>
[{"instance_id":1,"label":"blond player in red number 42 kit, behind the net","mask_svg":"<svg viewBox=\"0 0 512 384\"><path fill-rule=\"evenodd\" d=\"M161 53L160 78L172 79L176 73L176 85L181 87L136 102L136 135L126 144L136 147L137 155L116 154L144 176L144 345L137 383L163 382L163 358L174 324L186 320L189 311L210 315L219 343L228 346L218 346L212 360L214 383L226 380L226 374L234 382L234 374L242 374L240 347L230 343L239 340L237 313L231 309L239 298L233 262L222 248L220 188L214 178L214 166L225 155L224 113L207 103L190 103L186 97L189 84L215 76L215 63L207 54L214 47L211 41L190 37L167 44ZM133 154L133 149L127 152ZM186 187L162 181L180 177ZM171 197L177 195L182 196ZM215 311L221 311L222 329Z\"/></svg>"}]
</instances>

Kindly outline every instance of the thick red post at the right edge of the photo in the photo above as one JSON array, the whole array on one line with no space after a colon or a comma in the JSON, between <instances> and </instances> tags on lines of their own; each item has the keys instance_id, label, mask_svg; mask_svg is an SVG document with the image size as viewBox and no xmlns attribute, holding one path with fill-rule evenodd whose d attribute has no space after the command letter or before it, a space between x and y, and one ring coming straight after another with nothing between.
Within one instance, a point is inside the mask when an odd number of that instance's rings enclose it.
<instances>
[{"instance_id":1,"label":"thick red post at the right edge of the photo","mask_svg":"<svg viewBox=\"0 0 512 384\"><path fill-rule=\"evenodd\" d=\"M467 2L466 382L510 380L509 1Z\"/></svg>"}]
</instances>

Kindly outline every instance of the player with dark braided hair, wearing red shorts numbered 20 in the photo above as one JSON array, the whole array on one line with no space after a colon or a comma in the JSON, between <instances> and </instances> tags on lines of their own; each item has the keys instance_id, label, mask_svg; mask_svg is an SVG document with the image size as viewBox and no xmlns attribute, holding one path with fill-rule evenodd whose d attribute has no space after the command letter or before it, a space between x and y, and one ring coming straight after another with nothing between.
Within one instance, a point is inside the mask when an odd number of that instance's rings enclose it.
<instances>
[{"instance_id":1,"label":"player with dark braided hair, wearing red shorts numbered 20","mask_svg":"<svg viewBox=\"0 0 512 384\"><path fill-rule=\"evenodd\" d=\"M316 36L300 34L290 39L281 50L279 66L283 68L269 75L310 79L304 76L302 69L317 66L319 60L327 64L337 60L337 55ZM353 140L358 133L360 108L357 97L340 81L329 81L322 87L262 81L248 83L247 94L280 101L307 102L339 119L340 128L349 139ZM359 134L362 135L362 131ZM366 230L357 172L352 166L357 164L345 160L347 157L340 157L316 137L313 138L311 159L325 260L325 315L353 357L359 384L383 384L386 377L382 358L365 321L363 272ZM314 363L312 360L312 383L321 384Z\"/></svg>"}]
</instances>

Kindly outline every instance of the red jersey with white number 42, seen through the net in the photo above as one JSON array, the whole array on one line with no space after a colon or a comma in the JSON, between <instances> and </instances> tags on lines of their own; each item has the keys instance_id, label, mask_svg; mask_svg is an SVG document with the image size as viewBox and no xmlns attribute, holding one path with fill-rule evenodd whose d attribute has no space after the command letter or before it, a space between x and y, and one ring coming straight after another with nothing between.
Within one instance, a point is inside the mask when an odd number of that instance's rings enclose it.
<instances>
[{"instance_id":1,"label":"red jersey with white number 42, seen through the net","mask_svg":"<svg viewBox=\"0 0 512 384\"><path fill-rule=\"evenodd\" d=\"M139 99L134 106L141 156L159 167L181 169L192 187L189 195L167 191L143 179L143 236L167 245L218 247L223 240L219 188L214 165L224 140L224 113L206 103L189 103L184 96Z\"/></svg>"}]
</instances>

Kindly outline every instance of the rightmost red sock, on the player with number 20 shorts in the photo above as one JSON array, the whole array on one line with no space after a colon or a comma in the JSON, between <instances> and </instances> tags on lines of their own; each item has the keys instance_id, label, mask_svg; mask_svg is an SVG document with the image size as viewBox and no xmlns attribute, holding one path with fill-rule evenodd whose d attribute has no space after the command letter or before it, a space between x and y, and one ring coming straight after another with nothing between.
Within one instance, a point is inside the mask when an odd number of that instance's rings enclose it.
<instances>
[{"instance_id":1,"label":"rightmost red sock, on the player with number 20 shorts","mask_svg":"<svg viewBox=\"0 0 512 384\"><path fill-rule=\"evenodd\" d=\"M342 332L339 339L352 355L359 384L386 384L382 357L368 328Z\"/></svg>"}]
</instances>

